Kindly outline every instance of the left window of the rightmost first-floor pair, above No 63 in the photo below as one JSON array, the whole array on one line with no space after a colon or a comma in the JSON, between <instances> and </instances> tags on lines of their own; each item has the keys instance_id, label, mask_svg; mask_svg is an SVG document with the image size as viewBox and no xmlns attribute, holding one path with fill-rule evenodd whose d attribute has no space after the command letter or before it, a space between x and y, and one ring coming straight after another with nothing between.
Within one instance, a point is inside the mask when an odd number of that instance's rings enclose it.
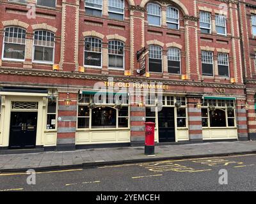
<instances>
[{"instance_id":1,"label":"left window of the rightmost first-floor pair, above No 63","mask_svg":"<svg viewBox=\"0 0 256 204\"><path fill-rule=\"evenodd\" d=\"M202 51L202 74L213 77L213 52Z\"/></svg>"}]
</instances>

